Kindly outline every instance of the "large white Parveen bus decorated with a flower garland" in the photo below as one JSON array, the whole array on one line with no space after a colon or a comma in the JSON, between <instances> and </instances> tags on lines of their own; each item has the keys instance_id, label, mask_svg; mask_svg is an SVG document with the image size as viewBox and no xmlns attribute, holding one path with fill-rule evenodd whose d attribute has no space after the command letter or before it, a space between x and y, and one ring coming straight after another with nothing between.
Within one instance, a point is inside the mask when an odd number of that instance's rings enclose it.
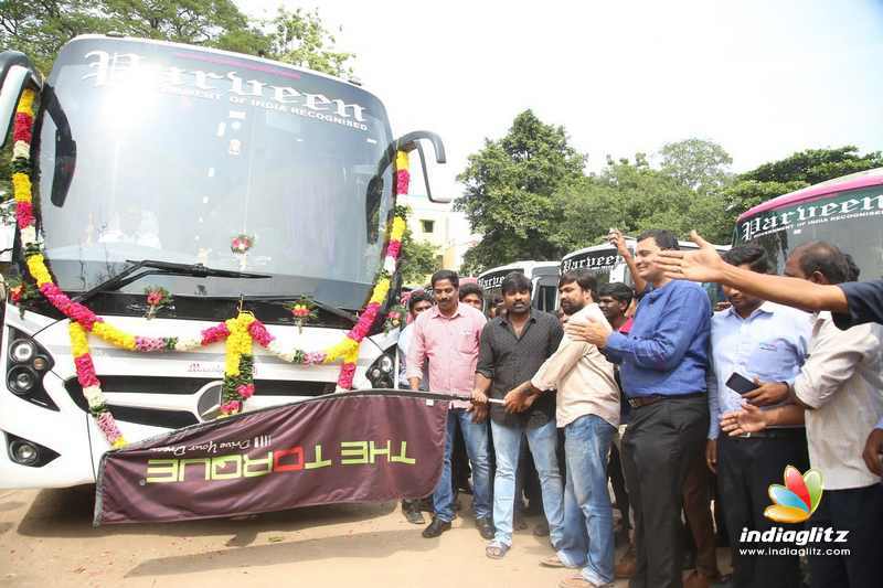
<instances>
[{"instance_id":1,"label":"large white Parveen bus decorated with a flower garland","mask_svg":"<svg viewBox=\"0 0 883 588\"><path fill-rule=\"evenodd\" d=\"M382 269L396 151L423 160L426 141L444 162L437 136L396 139L381 100L359 85L258 57L86 35L62 49L45 83L34 72L21 53L0 54L0 129L23 87L38 90L30 160L46 265L71 298L139 335L198 334L244 308L286 346L340 342ZM23 257L17 234L25 276ZM172 297L152 320L148 286ZM301 297L317 314L298 329L285 304ZM397 298L393 287L386 303ZM377 322L360 349L358 388L392 386L397 331ZM108 443L67 325L41 297L7 308L0 488L95 481ZM219 414L223 344L153 355L91 343L127 441ZM254 355L248 408L336 389L338 364L296 365L257 345Z\"/></svg>"}]
</instances>

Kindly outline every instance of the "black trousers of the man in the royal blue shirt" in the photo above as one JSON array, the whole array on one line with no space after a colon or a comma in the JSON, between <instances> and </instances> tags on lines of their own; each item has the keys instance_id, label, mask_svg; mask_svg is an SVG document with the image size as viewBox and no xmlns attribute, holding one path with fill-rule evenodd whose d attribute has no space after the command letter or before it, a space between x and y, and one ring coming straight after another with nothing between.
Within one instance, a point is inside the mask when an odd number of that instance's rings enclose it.
<instances>
[{"instance_id":1,"label":"black trousers of the man in the royal blue shirt","mask_svg":"<svg viewBox=\"0 0 883 588\"><path fill-rule=\"evenodd\" d=\"M682 586L683 484L708 431L705 396L672 397L631 411L621 456L635 511L637 566L631 588Z\"/></svg>"}]
</instances>

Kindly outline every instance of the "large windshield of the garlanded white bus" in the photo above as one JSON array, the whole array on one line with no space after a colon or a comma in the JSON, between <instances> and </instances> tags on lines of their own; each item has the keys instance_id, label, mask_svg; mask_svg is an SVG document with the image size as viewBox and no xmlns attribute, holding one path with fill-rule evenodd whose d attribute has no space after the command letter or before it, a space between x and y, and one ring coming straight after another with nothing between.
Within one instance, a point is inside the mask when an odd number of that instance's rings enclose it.
<instances>
[{"instance_id":1,"label":"large windshield of the garlanded white bus","mask_svg":"<svg viewBox=\"0 0 883 588\"><path fill-rule=\"evenodd\" d=\"M63 289L158 259L272 276L150 279L172 295L364 302L393 205L374 96L263 60L105 38L66 45L47 89L40 209Z\"/></svg>"}]
</instances>

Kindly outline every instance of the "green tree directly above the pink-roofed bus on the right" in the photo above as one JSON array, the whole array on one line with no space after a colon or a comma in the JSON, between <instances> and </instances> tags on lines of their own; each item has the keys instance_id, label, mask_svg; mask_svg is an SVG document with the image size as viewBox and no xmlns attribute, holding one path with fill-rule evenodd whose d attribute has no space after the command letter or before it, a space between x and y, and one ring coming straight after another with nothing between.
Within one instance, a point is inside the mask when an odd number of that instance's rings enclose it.
<instances>
[{"instance_id":1,"label":"green tree directly above the pink-roofed bus on the right","mask_svg":"<svg viewBox=\"0 0 883 588\"><path fill-rule=\"evenodd\" d=\"M745 172L724 197L733 220L762 202L841 175L883 167L880 151L861 154L855 146L807 149Z\"/></svg>"}]
</instances>

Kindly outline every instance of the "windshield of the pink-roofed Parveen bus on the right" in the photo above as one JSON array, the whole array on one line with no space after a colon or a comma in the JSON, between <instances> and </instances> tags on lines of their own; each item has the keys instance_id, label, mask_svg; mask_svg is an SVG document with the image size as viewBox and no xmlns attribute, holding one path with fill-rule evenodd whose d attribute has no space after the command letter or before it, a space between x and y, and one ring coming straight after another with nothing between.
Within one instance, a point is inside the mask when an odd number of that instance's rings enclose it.
<instances>
[{"instance_id":1,"label":"windshield of the pink-roofed Parveen bus on the right","mask_svg":"<svg viewBox=\"0 0 883 588\"><path fill-rule=\"evenodd\" d=\"M883 185L847 190L743 217L734 245L754 243L776 260L779 271L795 247L826 240L848 253L861 279L883 276Z\"/></svg>"}]
</instances>

